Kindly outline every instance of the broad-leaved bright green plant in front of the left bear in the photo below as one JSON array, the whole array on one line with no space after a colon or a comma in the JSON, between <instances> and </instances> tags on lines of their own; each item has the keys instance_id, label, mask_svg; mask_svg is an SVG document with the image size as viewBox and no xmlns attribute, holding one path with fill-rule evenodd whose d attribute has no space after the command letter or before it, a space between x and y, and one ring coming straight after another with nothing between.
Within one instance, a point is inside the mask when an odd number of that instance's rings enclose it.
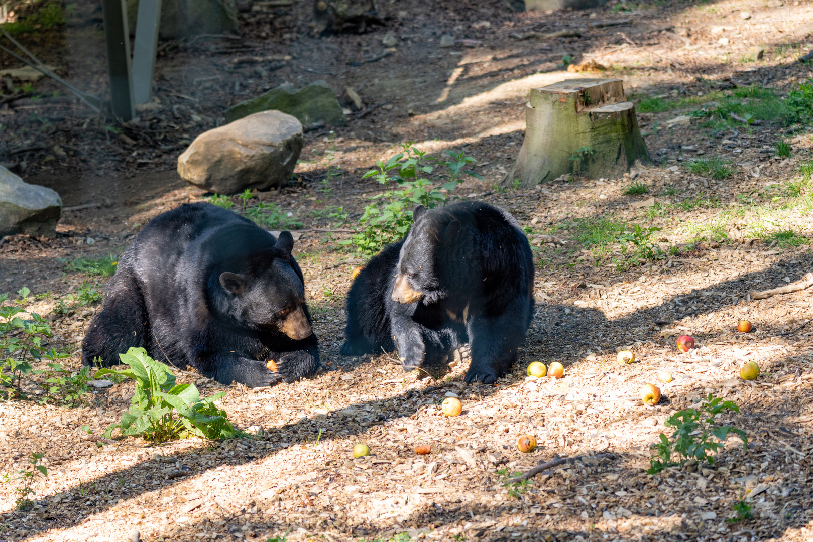
<instances>
[{"instance_id":1,"label":"broad-leaved bright green plant in front of the left bear","mask_svg":"<svg viewBox=\"0 0 813 542\"><path fill-rule=\"evenodd\" d=\"M176 384L170 368L150 358L142 348L128 349L119 358L129 370L102 369L95 377L123 375L136 382L136 390L127 414L108 426L104 436L110 438L115 428L124 436L141 435L155 442L187 436L206 439L235 436L226 411L215 405L226 395L224 392L200 397L198 388L193 384Z\"/></svg>"}]
</instances>

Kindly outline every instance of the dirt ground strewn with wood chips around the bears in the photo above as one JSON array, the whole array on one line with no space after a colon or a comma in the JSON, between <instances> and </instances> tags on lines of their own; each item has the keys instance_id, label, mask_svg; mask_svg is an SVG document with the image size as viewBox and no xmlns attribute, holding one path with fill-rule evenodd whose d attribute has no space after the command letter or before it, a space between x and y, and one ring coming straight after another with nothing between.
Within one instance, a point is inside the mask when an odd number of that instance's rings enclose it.
<instances>
[{"instance_id":1,"label":"dirt ground strewn with wood chips around the bears","mask_svg":"<svg viewBox=\"0 0 813 542\"><path fill-rule=\"evenodd\" d=\"M103 92L95 9L77 2L59 35L29 46L68 80ZM813 3L613 2L515 13L498 3L382 2L385 28L318 39L307 34L308 2L271 9L242 12L239 40L162 41L154 104L127 125L107 127L63 96L0 107L2 163L56 189L65 205L57 237L0 241L0 291L38 294L26 310L49 320L53 345L78 371L85 327L101 305L93 296L73 310L59 303L99 293L107 279L71 263L120 254L150 218L201 201L202 191L177 176L176 158L226 106L284 81L324 79L337 93L360 89L365 107L346 128L306 134L298 182L256 194L303 224L295 254L323 368L255 390L179 375L207 395L227 392L220 405L250 436L226 441L100 441L128 408L127 381L87 393L76 408L0 404L0 471L28 466L29 453L44 453L48 470L33 484L33 509L15 509L18 482L0 486L0 540L127 540L133 531L150 542L813 540L813 288L750 295L813 271L810 187L791 190L809 180L813 128L668 122L698 110L706 94L757 86L784 97L813 75L798 62L813 48ZM561 30L579 35L528 37ZM388 56L352 65L385 50L389 32L398 44ZM461 41L441 48L443 34ZM752 46L763 59L748 58ZM276 69L233 62L257 54L292 59ZM609 69L567 72L566 55ZM624 179L500 188L523 141L528 89L581 76L624 80L640 111L647 100L667 103L639 113L653 162ZM54 90L50 80L36 85ZM789 157L773 153L782 138ZM337 245L346 232L314 228L354 228L367 197L380 193L360 176L405 141L476 158L485 181L466 180L455 194L502 206L531 232L536 314L513 374L496 386L463 383L465 352L409 373L393 355L338 355L350 271L363 260ZM727 159L733 175L691 173L689 159L703 154ZM648 193L628 194L636 181ZM327 217L337 206L345 222ZM651 238L672 254L630 262L599 238L612 224L633 223L661 228ZM743 318L753 332L736 331ZM698 348L680 353L679 334ZM637 362L617 365L620 349ZM746 382L737 376L749 360L763 372ZM533 361L562 362L565 375L526 379ZM674 379L659 384L658 405L642 405L641 386L657 384L660 371ZM37 398L35 382L24 388ZM646 474L651 445L671 434L667 417L708 394L739 406L717 421L745 431L747 449L730 437L714 465ZM463 414L448 418L440 403L452 396ZM532 453L516 449L523 434L537 438ZM354 459L357 442L372 455ZM418 444L432 452L416 455ZM580 456L531 483L506 481L537 462ZM741 500L753 518L737 521Z\"/></svg>"}]
</instances>

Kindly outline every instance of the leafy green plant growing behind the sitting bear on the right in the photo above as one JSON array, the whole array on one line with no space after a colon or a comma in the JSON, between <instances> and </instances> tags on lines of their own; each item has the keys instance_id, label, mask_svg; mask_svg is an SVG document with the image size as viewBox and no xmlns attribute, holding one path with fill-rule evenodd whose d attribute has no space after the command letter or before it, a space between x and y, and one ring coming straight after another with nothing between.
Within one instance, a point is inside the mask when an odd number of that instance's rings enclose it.
<instances>
[{"instance_id":1,"label":"leafy green plant growing behind the sitting bear on the right","mask_svg":"<svg viewBox=\"0 0 813 542\"><path fill-rule=\"evenodd\" d=\"M423 205L432 209L445 205L450 193L462 182L462 174L485 180L474 171L463 169L475 159L463 153L446 150L449 160L429 158L426 152L412 142L401 145L402 152L386 162L376 162L376 169L367 171L362 178L373 178L384 186L384 192L371 197L372 203L364 207L359 226L352 238L339 241L353 244L362 254L376 254L381 247L398 241L412 226L412 208ZM433 164L433 165L430 165ZM436 167L445 166L446 174L437 174ZM440 186L428 176L435 174L445 180ZM380 202L380 204L379 204Z\"/></svg>"}]
</instances>

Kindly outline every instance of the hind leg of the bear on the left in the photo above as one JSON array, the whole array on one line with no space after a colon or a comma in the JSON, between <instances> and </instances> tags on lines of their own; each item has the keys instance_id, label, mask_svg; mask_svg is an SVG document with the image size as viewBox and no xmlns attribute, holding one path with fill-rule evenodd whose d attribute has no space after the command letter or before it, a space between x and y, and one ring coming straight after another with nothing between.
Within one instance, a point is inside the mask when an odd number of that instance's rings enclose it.
<instances>
[{"instance_id":1,"label":"hind leg of the bear on the left","mask_svg":"<svg viewBox=\"0 0 813 542\"><path fill-rule=\"evenodd\" d=\"M101 358L101 365L119 365L119 354L131 347L146 347L150 332L147 310L135 277L127 270L116 273L107 288L102 310L90 322L82 340L82 363Z\"/></svg>"}]
</instances>

